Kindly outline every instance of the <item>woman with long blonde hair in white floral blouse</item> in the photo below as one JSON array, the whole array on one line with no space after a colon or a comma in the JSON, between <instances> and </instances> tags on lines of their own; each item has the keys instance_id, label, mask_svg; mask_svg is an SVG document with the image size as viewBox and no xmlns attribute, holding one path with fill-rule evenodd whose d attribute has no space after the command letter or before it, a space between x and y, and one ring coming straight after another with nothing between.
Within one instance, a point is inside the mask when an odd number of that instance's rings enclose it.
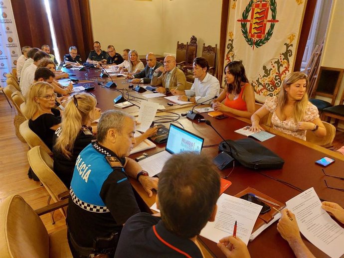
<instances>
[{"instance_id":1,"label":"woman with long blonde hair in white floral blouse","mask_svg":"<svg viewBox=\"0 0 344 258\"><path fill-rule=\"evenodd\" d=\"M272 113L274 129L306 140L306 131L311 130L318 137L326 135L326 129L319 118L318 109L308 101L307 75L293 72L284 79L278 96L266 100L263 107L251 117L252 131L260 131L259 121Z\"/></svg>"}]
</instances>

